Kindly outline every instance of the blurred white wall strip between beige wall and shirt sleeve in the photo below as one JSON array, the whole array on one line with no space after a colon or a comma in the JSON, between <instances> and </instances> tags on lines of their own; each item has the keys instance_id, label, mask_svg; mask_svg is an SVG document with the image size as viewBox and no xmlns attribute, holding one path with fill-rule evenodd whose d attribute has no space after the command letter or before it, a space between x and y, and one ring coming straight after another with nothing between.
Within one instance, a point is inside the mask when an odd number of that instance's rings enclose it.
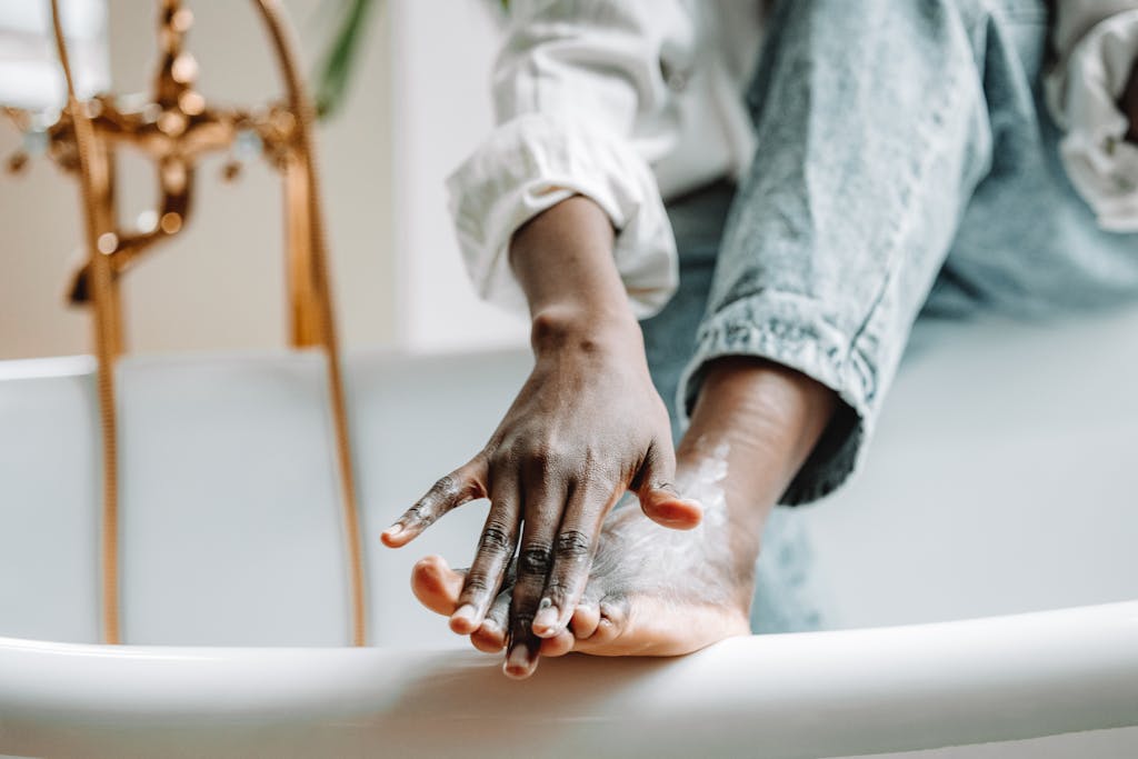
<instances>
[{"instance_id":1,"label":"blurred white wall strip between beige wall and shirt sleeve","mask_svg":"<svg viewBox=\"0 0 1138 759\"><path fill-rule=\"evenodd\" d=\"M496 0L391 0L398 335L428 349L521 345L525 320L478 299L444 181L493 125Z\"/></svg>"}]
</instances>

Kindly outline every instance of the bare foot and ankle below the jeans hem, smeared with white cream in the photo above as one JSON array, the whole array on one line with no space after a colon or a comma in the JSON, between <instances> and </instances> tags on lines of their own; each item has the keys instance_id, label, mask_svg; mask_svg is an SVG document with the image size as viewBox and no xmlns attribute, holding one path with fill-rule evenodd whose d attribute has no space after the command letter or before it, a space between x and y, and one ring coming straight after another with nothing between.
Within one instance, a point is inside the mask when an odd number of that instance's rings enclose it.
<instances>
[{"instance_id":1,"label":"bare foot and ankle below the jeans hem, smeared with white cream","mask_svg":"<svg viewBox=\"0 0 1138 759\"><path fill-rule=\"evenodd\" d=\"M678 655L748 634L762 523L835 405L828 389L789 369L753 358L715 362L677 452L677 487L700 496L702 523L669 533L634 508L616 509L569 624L543 630L541 655ZM451 616L463 580L463 570L428 556L415 566L412 589L428 609ZM508 579L470 636L475 647L508 644L510 601ZM535 665L508 657L505 670L528 676Z\"/></svg>"}]
</instances>

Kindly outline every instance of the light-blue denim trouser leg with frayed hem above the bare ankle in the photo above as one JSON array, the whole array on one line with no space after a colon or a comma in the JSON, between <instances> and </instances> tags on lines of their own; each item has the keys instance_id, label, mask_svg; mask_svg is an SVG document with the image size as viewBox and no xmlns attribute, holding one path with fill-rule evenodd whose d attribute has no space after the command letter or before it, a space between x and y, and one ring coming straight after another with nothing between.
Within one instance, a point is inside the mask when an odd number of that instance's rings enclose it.
<instances>
[{"instance_id":1,"label":"light-blue denim trouser leg with frayed hem above the bare ankle","mask_svg":"<svg viewBox=\"0 0 1138 759\"><path fill-rule=\"evenodd\" d=\"M834 490L864 455L909 329L992 171L993 131L1032 107L1019 49L1044 43L1045 18L1037 0L778 5L750 97L759 150L681 394L691 406L711 362L744 355L840 395L783 502Z\"/></svg>"}]
</instances>

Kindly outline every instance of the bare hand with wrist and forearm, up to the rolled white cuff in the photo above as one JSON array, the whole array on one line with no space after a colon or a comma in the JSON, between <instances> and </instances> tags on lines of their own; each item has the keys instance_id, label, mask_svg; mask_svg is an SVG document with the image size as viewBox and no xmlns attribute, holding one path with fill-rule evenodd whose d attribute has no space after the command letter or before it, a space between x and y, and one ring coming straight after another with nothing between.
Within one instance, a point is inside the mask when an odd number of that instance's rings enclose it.
<instances>
[{"instance_id":1,"label":"bare hand with wrist and forearm, up to the rolled white cuff","mask_svg":"<svg viewBox=\"0 0 1138 759\"><path fill-rule=\"evenodd\" d=\"M534 312L533 373L486 447L382 536L405 545L452 509L489 497L451 628L479 628L520 542L506 654L506 673L518 677L536 666L541 637L568 625L601 523L625 492L667 527L692 528L701 518L671 485L668 414L612 264L611 236L603 212L583 198L516 236L514 271Z\"/></svg>"}]
</instances>

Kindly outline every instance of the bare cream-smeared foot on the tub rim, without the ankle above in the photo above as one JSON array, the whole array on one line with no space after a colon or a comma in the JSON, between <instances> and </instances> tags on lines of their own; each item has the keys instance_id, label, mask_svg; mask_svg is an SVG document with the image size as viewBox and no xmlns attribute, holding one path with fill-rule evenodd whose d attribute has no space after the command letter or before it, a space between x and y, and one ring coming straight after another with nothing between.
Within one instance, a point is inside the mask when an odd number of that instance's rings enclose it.
<instances>
[{"instance_id":1,"label":"bare cream-smeared foot on the tub rim, without the ankle above","mask_svg":"<svg viewBox=\"0 0 1138 759\"><path fill-rule=\"evenodd\" d=\"M721 479L718 465L710 457L704 467L711 469L692 477L715 485ZM604 525L588 586L568 626L556 628L555 614L543 617L539 610L533 642L513 646L506 675L528 677L538 654L670 657L749 634L753 552L743 551L740 559L727 547L733 541L721 490L700 497L704 521L688 533L667 530L637 508L617 508ZM428 609L451 616L462 577L440 556L428 556L415 564L412 589ZM506 645L510 597L508 581L470 636L478 650L498 652Z\"/></svg>"}]
</instances>

